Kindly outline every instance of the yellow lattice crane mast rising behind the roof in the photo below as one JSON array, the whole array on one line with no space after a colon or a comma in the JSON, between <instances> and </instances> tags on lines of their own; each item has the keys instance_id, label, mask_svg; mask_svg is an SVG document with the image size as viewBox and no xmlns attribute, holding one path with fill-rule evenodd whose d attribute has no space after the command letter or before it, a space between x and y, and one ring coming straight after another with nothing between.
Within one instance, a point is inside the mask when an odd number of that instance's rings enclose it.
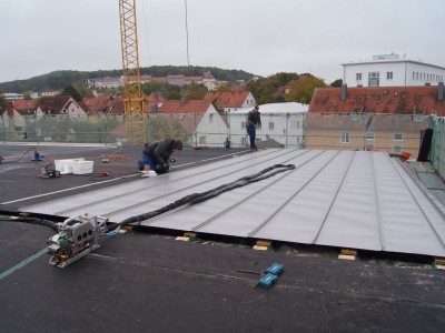
<instances>
[{"instance_id":1,"label":"yellow lattice crane mast rising behind the roof","mask_svg":"<svg viewBox=\"0 0 445 333\"><path fill-rule=\"evenodd\" d=\"M136 0L119 0L120 39L123 68L123 110L129 144L146 142L146 113L140 89Z\"/></svg>"}]
</instances>

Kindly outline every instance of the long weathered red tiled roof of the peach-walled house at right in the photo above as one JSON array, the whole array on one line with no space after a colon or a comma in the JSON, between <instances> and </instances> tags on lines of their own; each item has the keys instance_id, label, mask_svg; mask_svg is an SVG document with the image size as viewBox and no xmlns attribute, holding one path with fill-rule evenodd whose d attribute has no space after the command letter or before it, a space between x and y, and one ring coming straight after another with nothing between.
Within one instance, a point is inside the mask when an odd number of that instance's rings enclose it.
<instances>
[{"instance_id":1,"label":"long weathered red tiled roof of the peach-walled house at right","mask_svg":"<svg viewBox=\"0 0 445 333\"><path fill-rule=\"evenodd\" d=\"M314 91L309 113L435 113L443 117L445 101L437 100L437 91L434 85L347 88L346 100L342 101L342 88L319 88Z\"/></svg>"}]
</instances>

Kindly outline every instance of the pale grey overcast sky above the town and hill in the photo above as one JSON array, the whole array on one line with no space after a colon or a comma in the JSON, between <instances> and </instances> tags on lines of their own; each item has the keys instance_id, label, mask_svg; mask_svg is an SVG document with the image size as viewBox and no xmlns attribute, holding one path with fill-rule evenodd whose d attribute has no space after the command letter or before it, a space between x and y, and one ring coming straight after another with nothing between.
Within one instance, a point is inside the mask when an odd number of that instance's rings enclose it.
<instances>
[{"instance_id":1,"label":"pale grey overcast sky above the town and hill","mask_svg":"<svg viewBox=\"0 0 445 333\"><path fill-rule=\"evenodd\" d=\"M141 67L187 65L186 0L136 0ZM187 0L190 65L267 77L398 53L445 67L444 0ZM0 82L121 69L118 0L0 0Z\"/></svg>"}]
</instances>

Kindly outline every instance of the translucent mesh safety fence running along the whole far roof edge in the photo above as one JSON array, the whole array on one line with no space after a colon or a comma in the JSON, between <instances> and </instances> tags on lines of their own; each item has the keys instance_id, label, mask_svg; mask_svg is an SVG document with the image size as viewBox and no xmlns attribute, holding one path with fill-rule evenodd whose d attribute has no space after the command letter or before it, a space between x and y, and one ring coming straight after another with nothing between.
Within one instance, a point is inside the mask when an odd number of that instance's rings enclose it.
<instances>
[{"instance_id":1,"label":"translucent mesh safety fence running along the whole far roof edge","mask_svg":"<svg viewBox=\"0 0 445 333\"><path fill-rule=\"evenodd\" d=\"M130 115L89 115L85 118L18 117L0 118L0 141L117 143L127 141L126 122ZM145 115L146 142L180 139L188 147L247 148L246 114L156 113ZM442 159L445 133L441 119L434 120L434 162ZM261 114L257 145L323 150L379 150L407 152L417 158L423 133L432 127L424 115Z\"/></svg>"}]
</instances>

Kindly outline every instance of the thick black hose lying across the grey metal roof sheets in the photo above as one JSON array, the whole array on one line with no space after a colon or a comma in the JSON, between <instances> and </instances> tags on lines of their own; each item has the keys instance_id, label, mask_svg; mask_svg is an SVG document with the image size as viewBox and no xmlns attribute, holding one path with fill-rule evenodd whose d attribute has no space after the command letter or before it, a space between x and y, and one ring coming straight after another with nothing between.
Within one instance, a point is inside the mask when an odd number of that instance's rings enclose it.
<instances>
[{"instance_id":1,"label":"thick black hose lying across the grey metal roof sheets","mask_svg":"<svg viewBox=\"0 0 445 333\"><path fill-rule=\"evenodd\" d=\"M277 169L277 170L275 170L275 169ZM195 203L198 203L198 202L202 202L205 200L215 198L215 196L217 196L217 195L219 195L219 194L221 194L224 192L231 191L234 189L241 188L241 186L245 186L247 184L265 180L265 179L267 179L269 176L273 176L273 175L275 175L277 173L280 173L280 172L284 172L284 171L287 171L287 170L293 170L293 169L295 169L294 164L287 164L287 165L286 164L275 164L273 167L269 167L269 168L266 168L266 169L261 170L260 172L258 172L256 174L240 178L240 179L238 179L238 180L236 180L236 181L234 181L231 183L227 183L227 184L217 186L217 188L208 190L206 192L194 193L194 194L189 194L189 195L182 196L181 199L179 199L179 200L177 200L177 201L175 201L175 202L172 202L172 203L170 203L168 205L165 205L165 206L162 206L162 208L160 208L160 209L158 209L156 211L151 211L151 212L148 212L148 213L145 213L145 214L136 215L136 216L130 216L128 219L125 219L123 221L121 221L118 224L113 224L112 229L115 230L115 229L117 229L117 228L119 228L121 225L129 224L129 223L135 223L135 222L139 222L140 223L142 221L152 219L152 218L155 218L157 215L164 214L164 213L166 213L168 211L175 210L175 209L177 209L179 206L182 206L185 204L195 204ZM270 172L273 170L275 170L275 171Z\"/></svg>"}]
</instances>

